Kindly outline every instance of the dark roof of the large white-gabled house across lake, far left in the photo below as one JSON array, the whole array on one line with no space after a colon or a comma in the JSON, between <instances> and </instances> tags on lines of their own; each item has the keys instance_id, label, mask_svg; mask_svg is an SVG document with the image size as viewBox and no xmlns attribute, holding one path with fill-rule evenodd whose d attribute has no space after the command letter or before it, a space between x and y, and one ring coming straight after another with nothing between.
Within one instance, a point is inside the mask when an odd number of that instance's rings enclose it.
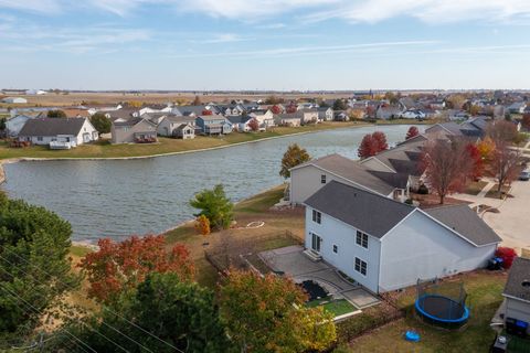
<instances>
[{"instance_id":1,"label":"dark roof of the large white-gabled house across lake, far left","mask_svg":"<svg viewBox=\"0 0 530 353\"><path fill-rule=\"evenodd\" d=\"M35 118L28 120L19 136L77 135L86 118Z\"/></svg>"}]
</instances>

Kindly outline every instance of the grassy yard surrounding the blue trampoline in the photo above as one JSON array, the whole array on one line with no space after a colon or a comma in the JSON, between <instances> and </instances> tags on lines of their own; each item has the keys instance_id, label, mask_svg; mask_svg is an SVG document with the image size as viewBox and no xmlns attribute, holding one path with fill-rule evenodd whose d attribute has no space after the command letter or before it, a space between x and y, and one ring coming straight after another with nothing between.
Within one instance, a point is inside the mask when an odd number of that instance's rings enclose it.
<instances>
[{"instance_id":1,"label":"grassy yard surrounding the blue trampoline","mask_svg":"<svg viewBox=\"0 0 530 353\"><path fill-rule=\"evenodd\" d=\"M489 322L502 302L506 274L477 271L458 276L464 281L470 306L469 322L462 331L445 331L422 323L414 317L414 289L406 290L398 300L406 317L386 324L350 343L351 352L488 352L495 332ZM352 320L354 320L353 318ZM403 339L407 330L421 334L418 343Z\"/></svg>"}]
</instances>

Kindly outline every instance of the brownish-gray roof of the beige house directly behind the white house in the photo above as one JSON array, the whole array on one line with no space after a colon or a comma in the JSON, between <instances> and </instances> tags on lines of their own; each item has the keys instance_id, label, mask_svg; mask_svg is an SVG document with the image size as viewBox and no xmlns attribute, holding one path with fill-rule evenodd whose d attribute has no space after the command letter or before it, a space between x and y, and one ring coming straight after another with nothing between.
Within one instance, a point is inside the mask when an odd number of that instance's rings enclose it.
<instances>
[{"instance_id":1,"label":"brownish-gray roof of the beige house directly behind the white house","mask_svg":"<svg viewBox=\"0 0 530 353\"><path fill-rule=\"evenodd\" d=\"M361 163L340 154L329 154L301 165L312 164L382 195L389 195L394 186L370 173ZM301 167L299 165L299 167Z\"/></svg>"}]
</instances>

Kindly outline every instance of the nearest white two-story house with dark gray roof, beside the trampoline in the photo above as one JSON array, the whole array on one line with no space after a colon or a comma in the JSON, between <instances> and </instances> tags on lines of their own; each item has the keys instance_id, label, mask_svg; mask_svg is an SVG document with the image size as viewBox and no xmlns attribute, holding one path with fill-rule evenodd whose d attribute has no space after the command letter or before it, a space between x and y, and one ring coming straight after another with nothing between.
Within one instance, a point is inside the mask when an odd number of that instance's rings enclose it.
<instances>
[{"instance_id":1,"label":"nearest white two-story house with dark gray roof, beside the trampoline","mask_svg":"<svg viewBox=\"0 0 530 353\"><path fill-rule=\"evenodd\" d=\"M484 267L501 240L467 205L422 210L337 181L304 204L306 254L374 293Z\"/></svg>"}]
</instances>

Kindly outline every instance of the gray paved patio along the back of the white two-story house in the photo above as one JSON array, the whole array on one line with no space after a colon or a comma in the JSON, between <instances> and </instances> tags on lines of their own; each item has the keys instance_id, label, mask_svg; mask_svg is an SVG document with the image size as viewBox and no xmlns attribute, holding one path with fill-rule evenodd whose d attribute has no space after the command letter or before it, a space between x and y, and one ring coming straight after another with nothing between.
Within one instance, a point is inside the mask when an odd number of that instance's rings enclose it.
<instances>
[{"instance_id":1,"label":"gray paved patio along the back of the white two-story house","mask_svg":"<svg viewBox=\"0 0 530 353\"><path fill-rule=\"evenodd\" d=\"M314 280L336 299L346 299L358 309L378 304L380 300L358 284L343 279L337 269L324 261L315 263L304 255L301 246L262 252L258 256L274 271L285 272L295 282Z\"/></svg>"}]
</instances>

